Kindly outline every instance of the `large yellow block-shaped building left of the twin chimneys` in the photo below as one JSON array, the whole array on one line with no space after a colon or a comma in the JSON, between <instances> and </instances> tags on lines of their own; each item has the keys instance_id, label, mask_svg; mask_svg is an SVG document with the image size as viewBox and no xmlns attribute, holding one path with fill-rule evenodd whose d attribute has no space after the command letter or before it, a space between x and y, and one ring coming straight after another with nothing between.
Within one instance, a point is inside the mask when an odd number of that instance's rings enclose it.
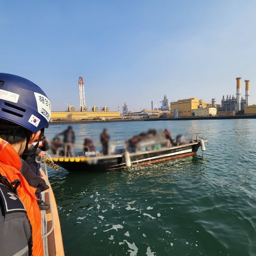
<instances>
[{"instance_id":1,"label":"large yellow block-shaped building left of the twin chimneys","mask_svg":"<svg viewBox=\"0 0 256 256\"><path fill-rule=\"evenodd\" d=\"M197 99L197 98L180 99L178 101L170 103L170 116L172 117L194 116L196 113L192 112L192 110L198 110L198 109L212 109L211 103L203 102L203 100ZM206 111L206 113L209 114L209 112L212 112L212 111L214 110L210 110L210 111L208 110Z\"/></svg>"}]
</instances>

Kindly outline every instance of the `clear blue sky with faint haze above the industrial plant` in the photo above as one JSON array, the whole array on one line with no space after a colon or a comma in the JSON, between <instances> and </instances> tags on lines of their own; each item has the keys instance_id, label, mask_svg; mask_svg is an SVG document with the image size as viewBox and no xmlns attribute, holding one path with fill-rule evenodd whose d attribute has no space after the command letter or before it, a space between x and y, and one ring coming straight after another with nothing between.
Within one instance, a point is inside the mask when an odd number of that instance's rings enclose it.
<instances>
[{"instance_id":1,"label":"clear blue sky with faint haze above the industrial plant","mask_svg":"<svg viewBox=\"0 0 256 256\"><path fill-rule=\"evenodd\" d=\"M86 105L131 111L197 97L256 104L256 1L0 2L0 72L41 87L52 111Z\"/></svg>"}]
</instances>

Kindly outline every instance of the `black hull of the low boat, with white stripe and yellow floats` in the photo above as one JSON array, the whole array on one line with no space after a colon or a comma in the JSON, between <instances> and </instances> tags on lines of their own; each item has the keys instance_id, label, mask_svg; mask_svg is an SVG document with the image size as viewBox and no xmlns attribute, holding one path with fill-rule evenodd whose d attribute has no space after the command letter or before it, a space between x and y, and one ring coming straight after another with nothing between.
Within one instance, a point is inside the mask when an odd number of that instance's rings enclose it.
<instances>
[{"instance_id":1,"label":"black hull of the low boat, with white stripe and yellow floats","mask_svg":"<svg viewBox=\"0 0 256 256\"><path fill-rule=\"evenodd\" d=\"M181 158L197 154L200 142L189 143L175 147L163 148L148 152L129 153L131 166L152 164L170 159ZM114 170L127 167L127 159L124 155L86 157L77 158L56 158L53 157L55 164L69 171L100 171Z\"/></svg>"}]
</instances>

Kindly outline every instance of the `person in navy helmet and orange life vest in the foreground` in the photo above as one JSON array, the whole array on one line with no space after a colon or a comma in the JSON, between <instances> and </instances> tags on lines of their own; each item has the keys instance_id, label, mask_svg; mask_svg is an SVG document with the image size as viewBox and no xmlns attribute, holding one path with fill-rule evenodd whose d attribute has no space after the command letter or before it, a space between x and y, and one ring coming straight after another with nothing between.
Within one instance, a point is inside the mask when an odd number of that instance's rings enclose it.
<instances>
[{"instance_id":1,"label":"person in navy helmet and orange life vest in the foreground","mask_svg":"<svg viewBox=\"0 0 256 256\"><path fill-rule=\"evenodd\" d=\"M49 188L25 160L51 118L51 102L36 84L0 73L0 248L3 255L44 254L35 193Z\"/></svg>"}]
</instances>

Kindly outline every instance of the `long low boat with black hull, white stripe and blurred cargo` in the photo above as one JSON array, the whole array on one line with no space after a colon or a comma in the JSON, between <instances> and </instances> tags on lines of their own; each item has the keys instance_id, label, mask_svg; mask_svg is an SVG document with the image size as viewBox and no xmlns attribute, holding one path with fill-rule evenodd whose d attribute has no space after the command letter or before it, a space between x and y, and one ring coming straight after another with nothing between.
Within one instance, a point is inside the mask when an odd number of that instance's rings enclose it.
<instances>
[{"instance_id":1,"label":"long low boat with black hull, white stripe and blurred cargo","mask_svg":"<svg viewBox=\"0 0 256 256\"><path fill-rule=\"evenodd\" d=\"M205 151L204 134L197 134L195 139L169 145L163 136L146 137L138 143L117 144L111 146L109 155L102 156L97 152L82 152L76 157L59 157L52 155L50 165L61 166L69 171L99 171L127 168L131 166L153 164L175 158L197 154L199 147Z\"/></svg>"}]
</instances>

